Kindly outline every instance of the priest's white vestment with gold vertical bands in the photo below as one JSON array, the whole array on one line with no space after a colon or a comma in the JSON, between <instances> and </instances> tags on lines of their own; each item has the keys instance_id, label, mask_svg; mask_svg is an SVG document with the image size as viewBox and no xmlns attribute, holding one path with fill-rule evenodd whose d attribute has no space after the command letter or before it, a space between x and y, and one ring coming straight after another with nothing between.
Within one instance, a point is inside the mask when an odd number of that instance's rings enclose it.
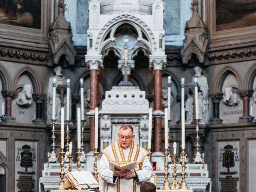
<instances>
[{"instance_id":1,"label":"priest's white vestment with gold vertical bands","mask_svg":"<svg viewBox=\"0 0 256 192\"><path fill-rule=\"evenodd\" d=\"M132 141L128 148L122 148L119 141L108 146L101 152L101 159L98 165L99 176L104 180L103 192L140 192L142 182L148 181L153 175L153 169L148 159L148 152ZM113 170L109 168L109 162L126 164L136 161L137 178L125 179L121 176L114 177Z\"/></svg>"}]
</instances>

